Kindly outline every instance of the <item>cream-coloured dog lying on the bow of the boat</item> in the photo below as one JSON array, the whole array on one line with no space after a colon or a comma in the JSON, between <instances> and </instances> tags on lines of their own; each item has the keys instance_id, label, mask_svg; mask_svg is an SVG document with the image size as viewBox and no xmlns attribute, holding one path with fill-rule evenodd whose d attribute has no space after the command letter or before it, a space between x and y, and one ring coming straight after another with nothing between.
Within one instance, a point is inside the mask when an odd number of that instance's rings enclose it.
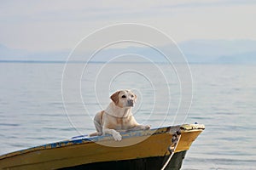
<instances>
[{"instance_id":1,"label":"cream-coloured dog lying on the bow of the boat","mask_svg":"<svg viewBox=\"0 0 256 170\"><path fill-rule=\"evenodd\" d=\"M111 95L112 102L105 111L100 111L94 118L96 133L90 136L101 136L102 134L111 134L114 140L120 141L122 136L120 131L126 130L147 130L150 126L140 125L136 122L131 113L137 95L130 90L120 90ZM118 132L119 131L119 132Z\"/></svg>"}]
</instances>

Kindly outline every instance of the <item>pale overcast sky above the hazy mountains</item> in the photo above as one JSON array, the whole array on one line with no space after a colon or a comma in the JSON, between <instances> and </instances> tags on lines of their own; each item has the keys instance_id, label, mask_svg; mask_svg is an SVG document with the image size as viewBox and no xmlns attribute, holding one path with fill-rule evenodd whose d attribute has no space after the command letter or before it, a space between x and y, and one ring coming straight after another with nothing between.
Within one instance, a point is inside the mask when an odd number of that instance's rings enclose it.
<instances>
[{"instance_id":1,"label":"pale overcast sky above the hazy mountains","mask_svg":"<svg viewBox=\"0 0 256 170\"><path fill-rule=\"evenodd\" d=\"M0 44L30 52L72 49L104 26L153 26L174 41L256 40L256 1L0 0Z\"/></svg>"}]
</instances>

